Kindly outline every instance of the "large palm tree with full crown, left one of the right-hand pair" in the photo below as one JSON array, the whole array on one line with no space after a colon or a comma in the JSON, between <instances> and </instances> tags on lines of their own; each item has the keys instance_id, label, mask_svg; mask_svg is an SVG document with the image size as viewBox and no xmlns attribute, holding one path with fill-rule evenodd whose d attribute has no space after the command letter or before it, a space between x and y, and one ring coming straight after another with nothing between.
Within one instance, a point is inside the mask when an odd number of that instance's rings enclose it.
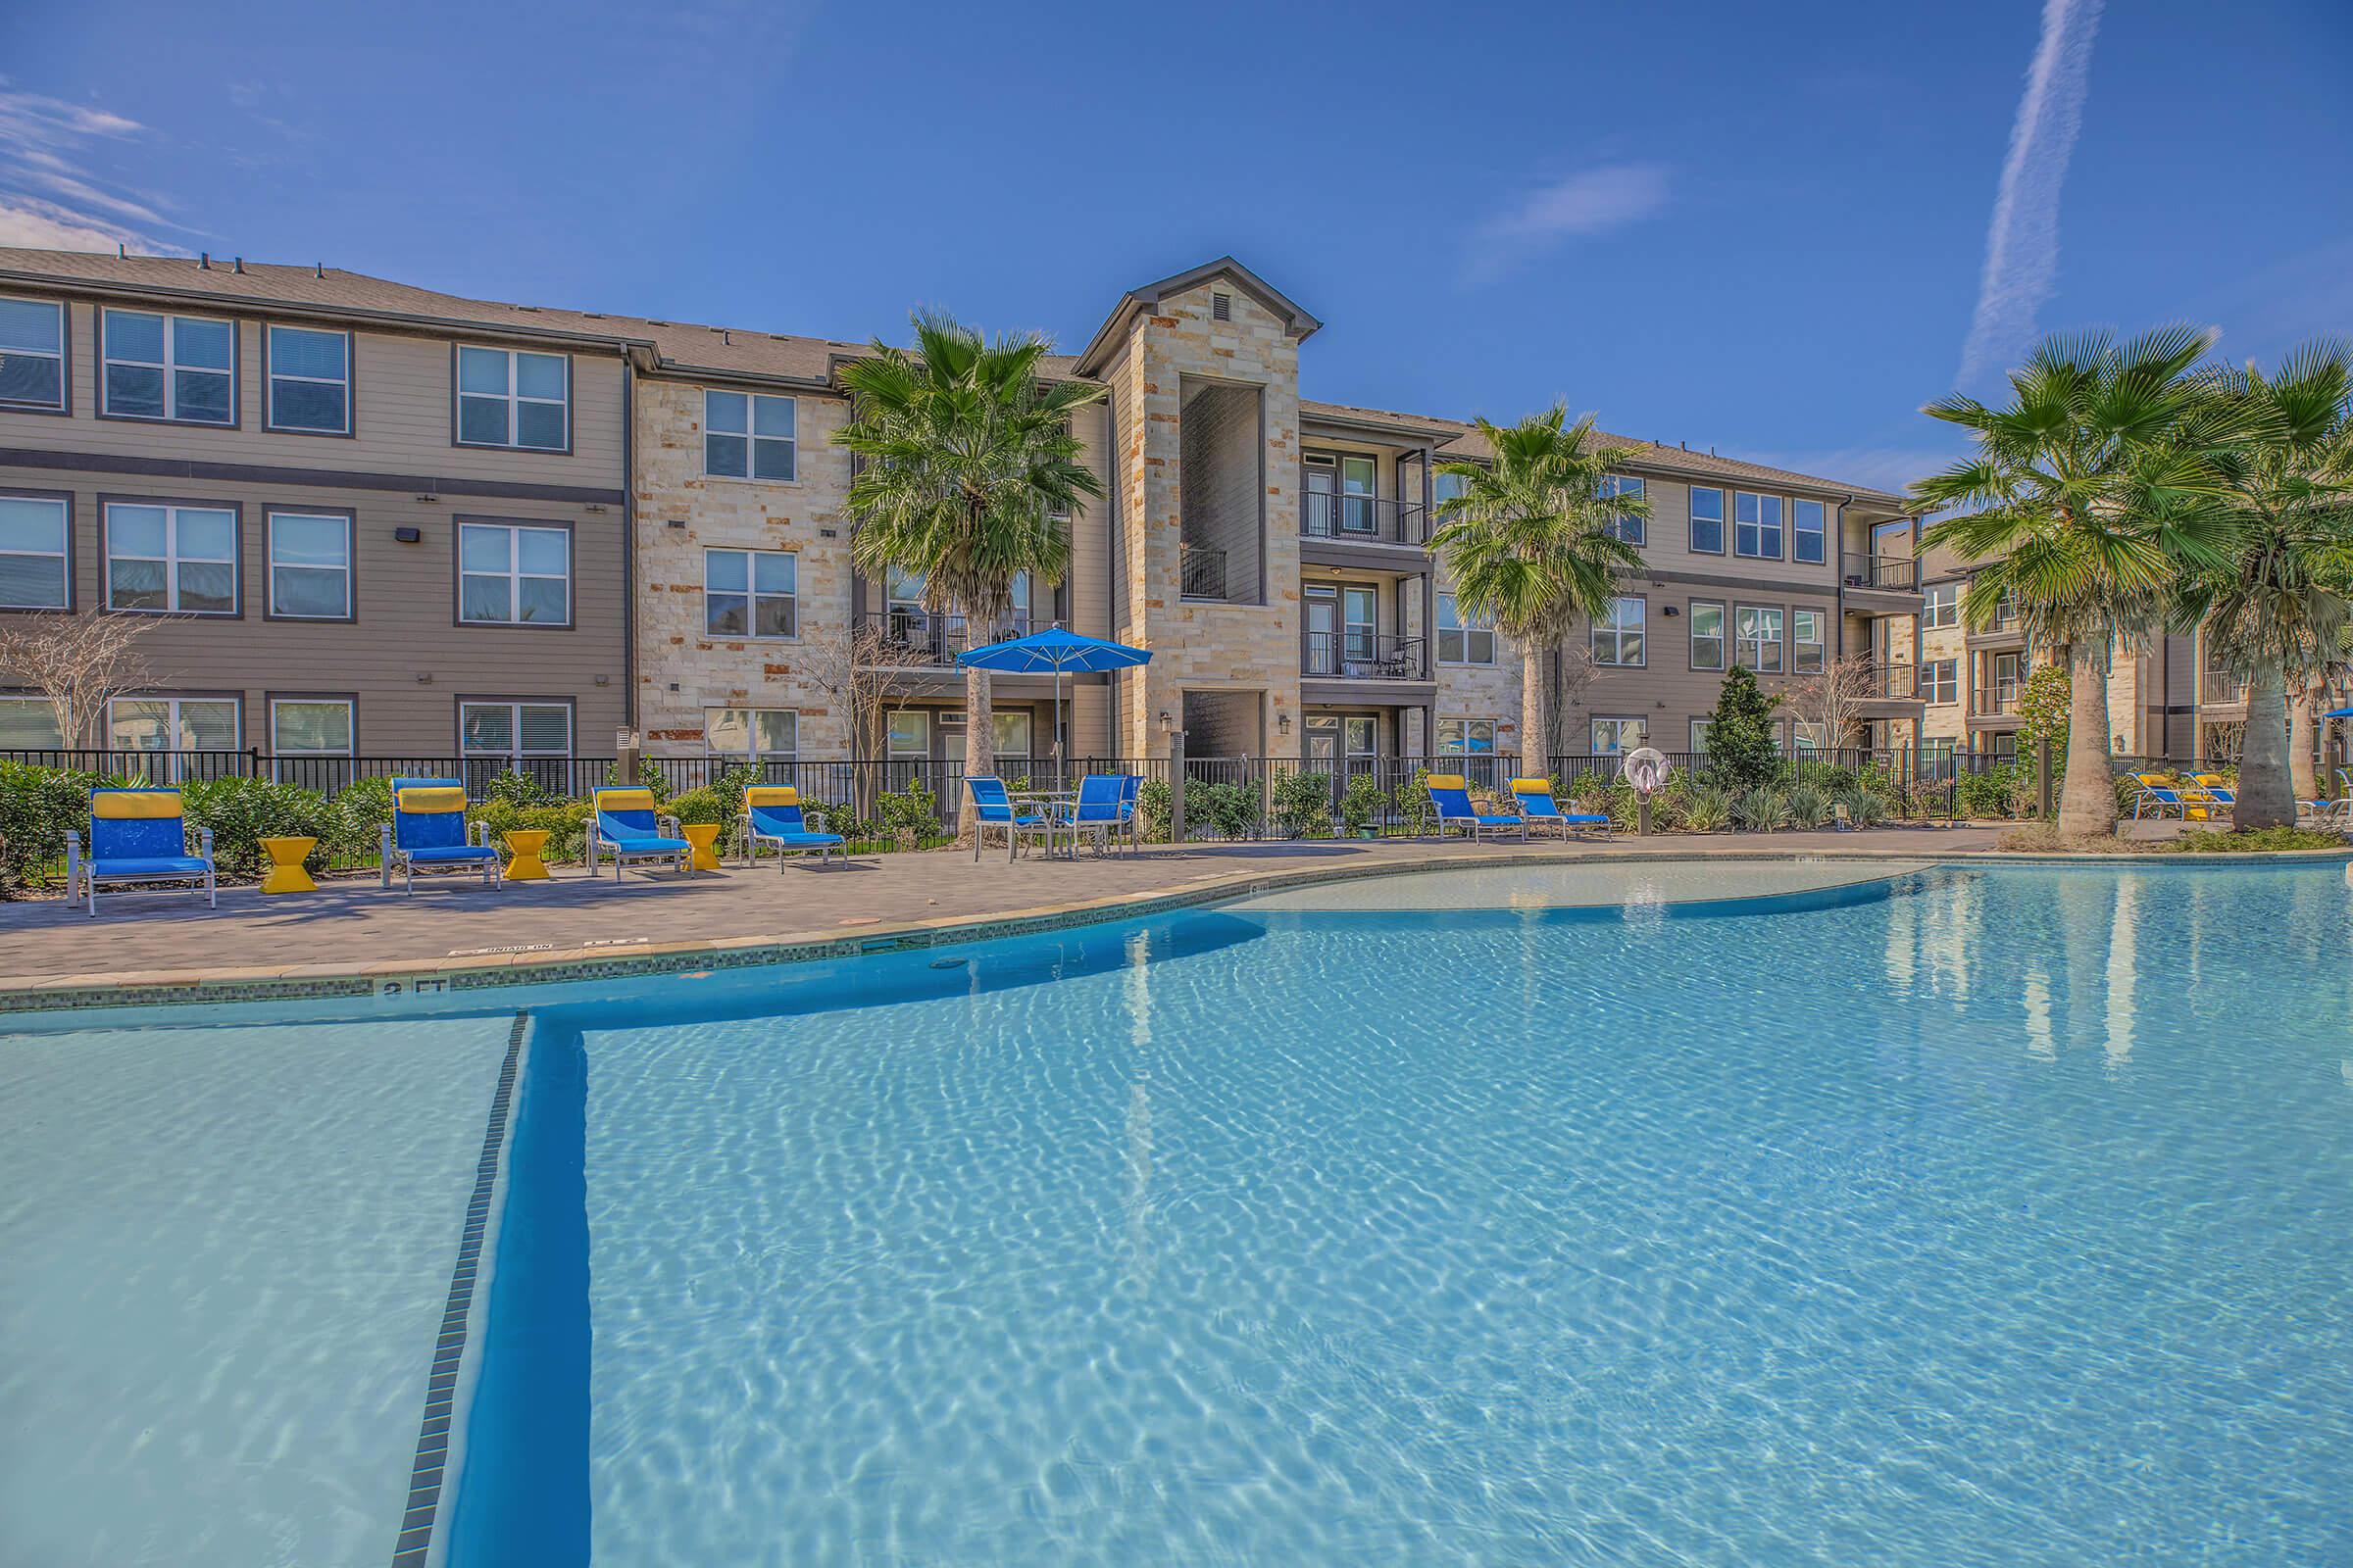
<instances>
[{"instance_id":1,"label":"large palm tree with full crown, left one of the right-hand pair","mask_svg":"<svg viewBox=\"0 0 2353 1568\"><path fill-rule=\"evenodd\" d=\"M2231 522L2217 505L2235 407L2200 362L2212 331L2160 327L2045 339L2009 374L2007 407L1941 397L1922 414L1960 425L1977 456L1911 487L1922 510L1958 508L1922 534L1986 562L1960 597L1986 625L2002 602L2068 670L2061 837L2115 832L2108 769L2108 658L2165 618L2186 569L2221 567Z\"/></svg>"}]
</instances>

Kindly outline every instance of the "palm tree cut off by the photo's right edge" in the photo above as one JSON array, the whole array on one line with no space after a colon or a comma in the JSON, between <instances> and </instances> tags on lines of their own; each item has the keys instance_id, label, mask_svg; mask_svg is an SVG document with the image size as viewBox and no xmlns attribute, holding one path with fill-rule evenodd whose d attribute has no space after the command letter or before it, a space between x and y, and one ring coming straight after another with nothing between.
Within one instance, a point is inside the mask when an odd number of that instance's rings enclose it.
<instances>
[{"instance_id":1,"label":"palm tree cut off by the photo's right edge","mask_svg":"<svg viewBox=\"0 0 2353 1568\"><path fill-rule=\"evenodd\" d=\"M2249 364L2217 376L2217 390L2247 423L2226 458L2238 538L2221 571L2188 578L2179 616L2205 628L2214 668L2247 682L2233 825L2292 827L2287 693L2308 705L2353 590L2353 348L2308 343L2278 374Z\"/></svg>"}]
</instances>

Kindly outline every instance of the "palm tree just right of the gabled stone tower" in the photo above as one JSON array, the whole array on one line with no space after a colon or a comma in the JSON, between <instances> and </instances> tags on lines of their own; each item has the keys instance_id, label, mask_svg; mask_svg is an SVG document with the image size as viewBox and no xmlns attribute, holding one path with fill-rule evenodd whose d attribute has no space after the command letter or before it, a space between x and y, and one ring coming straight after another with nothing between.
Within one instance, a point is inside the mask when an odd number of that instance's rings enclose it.
<instances>
[{"instance_id":1,"label":"palm tree just right of the gabled stone tower","mask_svg":"<svg viewBox=\"0 0 2353 1568\"><path fill-rule=\"evenodd\" d=\"M1553 404L1511 428L1478 421L1492 463L1440 463L1461 489L1438 505L1431 548L1447 564L1454 602L1520 646L1520 745L1544 745L1544 656L1579 616L1600 616L1619 574L1642 552L1624 524L1649 517L1640 494L1602 494L1633 447L1598 447L1593 416L1567 430ZM1527 762L1522 762L1527 766Z\"/></svg>"}]
</instances>

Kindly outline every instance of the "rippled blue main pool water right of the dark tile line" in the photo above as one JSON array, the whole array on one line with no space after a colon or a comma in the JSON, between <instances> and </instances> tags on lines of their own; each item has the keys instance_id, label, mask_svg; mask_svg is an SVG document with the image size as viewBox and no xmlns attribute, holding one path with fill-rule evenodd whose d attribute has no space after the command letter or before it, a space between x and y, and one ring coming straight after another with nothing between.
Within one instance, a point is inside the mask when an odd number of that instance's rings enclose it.
<instances>
[{"instance_id":1,"label":"rippled blue main pool water right of the dark tile line","mask_svg":"<svg viewBox=\"0 0 2353 1568\"><path fill-rule=\"evenodd\" d=\"M449 1561L2353 1554L2341 867L1358 886L513 992Z\"/></svg>"}]
</instances>

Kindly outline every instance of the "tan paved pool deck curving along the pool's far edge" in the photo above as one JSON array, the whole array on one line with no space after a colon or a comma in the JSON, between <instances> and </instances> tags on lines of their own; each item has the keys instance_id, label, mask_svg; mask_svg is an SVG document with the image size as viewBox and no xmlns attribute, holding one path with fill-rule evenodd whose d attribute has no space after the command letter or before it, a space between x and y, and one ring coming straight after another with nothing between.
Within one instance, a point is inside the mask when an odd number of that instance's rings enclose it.
<instances>
[{"instance_id":1,"label":"tan paved pool deck curving along the pool's far edge","mask_svg":"<svg viewBox=\"0 0 2353 1568\"><path fill-rule=\"evenodd\" d=\"M96 919L61 900L0 905L0 1013L106 1004L447 994L635 971L854 957L875 947L981 940L1304 882L1504 863L1953 860L1988 856L2000 825L1859 832L1664 835L1614 842L1289 842L1155 846L1139 856L1042 860L969 851L894 853L847 867L588 879L482 889L374 879L264 898L224 889L101 896ZM2169 837L2169 835L2167 835Z\"/></svg>"}]
</instances>

